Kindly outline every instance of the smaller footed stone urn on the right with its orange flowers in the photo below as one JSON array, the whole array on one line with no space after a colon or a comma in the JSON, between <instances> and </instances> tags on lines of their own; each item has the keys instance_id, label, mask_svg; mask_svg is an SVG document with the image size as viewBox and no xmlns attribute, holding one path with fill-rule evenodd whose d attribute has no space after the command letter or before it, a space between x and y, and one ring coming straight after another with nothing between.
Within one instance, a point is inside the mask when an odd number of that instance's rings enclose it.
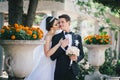
<instances>
[{"instance_id":1,"label":"smaller footed stone urn on the right with its orange flowers","mask_svg":"<svg viewBox=\"0 0 120 80\"><path fill-rule=\"evenodd\" d=\"M100 79L102 75L99 72L99 67L105 62L105 50L111 47L110 36L106 31L100 31L99 34L85 37L84 42L84 46L88 48L88 62L95 68L93 75L88 75L87 78Z\"/></svg>"}]
</instances>

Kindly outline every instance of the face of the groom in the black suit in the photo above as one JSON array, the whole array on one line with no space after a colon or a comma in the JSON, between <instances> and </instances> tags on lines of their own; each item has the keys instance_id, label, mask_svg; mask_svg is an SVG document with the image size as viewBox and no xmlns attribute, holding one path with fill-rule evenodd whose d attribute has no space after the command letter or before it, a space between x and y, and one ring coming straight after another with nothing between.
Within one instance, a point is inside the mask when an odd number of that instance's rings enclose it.
<instances>
[{"instance_id":1,"label":"face of the groom in the black suit","mask_svg":"<svg viewBox=\"0 0 120 80\"><path fill-rule=\"evenodd\" d=\"M63 31L68 31L70 27L70 21L66 21L65 18L59 18L59 26Z\"/></svg>"}]
</instances>

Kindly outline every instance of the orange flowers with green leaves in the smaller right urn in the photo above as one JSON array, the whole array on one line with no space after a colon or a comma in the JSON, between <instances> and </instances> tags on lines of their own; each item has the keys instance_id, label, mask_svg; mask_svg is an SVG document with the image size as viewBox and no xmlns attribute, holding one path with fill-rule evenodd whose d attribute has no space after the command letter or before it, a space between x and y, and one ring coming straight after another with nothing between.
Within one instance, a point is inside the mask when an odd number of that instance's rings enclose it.
<instances>
[{"instance_id":1,"label":"orange flowers with green leaves in the smaller right urn","mask_svg":"<svg viewBox=\"0 0 120 80\"><path fill-rule=\"evenodd\" d=\"M95 35L88 35L84 38L86 44L111 44L110 36L104 32Z\"/></svg>"}]
</instances>

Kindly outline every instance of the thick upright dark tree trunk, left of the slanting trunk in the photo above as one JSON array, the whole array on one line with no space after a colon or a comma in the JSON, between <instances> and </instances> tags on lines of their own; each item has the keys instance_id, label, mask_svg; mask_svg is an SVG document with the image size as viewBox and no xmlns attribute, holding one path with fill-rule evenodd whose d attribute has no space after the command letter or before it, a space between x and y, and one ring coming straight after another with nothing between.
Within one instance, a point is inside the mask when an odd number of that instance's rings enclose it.
<instances>
[{"instance_id":1,"label":"thick upright dark tree trunk, left of the slanting trunk","mask_svg":"<svg viewBox=\"0 0 120 80\"><path fill-rule=\"evenodd\" d=\"M9 24L22 24L23 0L8 0Z\"/></svg>"}]
</instances>

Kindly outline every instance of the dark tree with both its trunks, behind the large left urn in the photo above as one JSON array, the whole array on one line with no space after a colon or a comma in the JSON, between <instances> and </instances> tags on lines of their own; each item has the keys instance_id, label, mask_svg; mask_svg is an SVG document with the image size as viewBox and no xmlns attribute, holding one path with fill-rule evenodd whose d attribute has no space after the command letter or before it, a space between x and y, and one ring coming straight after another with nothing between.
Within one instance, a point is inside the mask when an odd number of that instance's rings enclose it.
<instances>
[{"instance_id":1,"label":"dark tree with both its trunks, behind the large left urn","mask_svg":"<svg viewBox=\"0 0 120 80\"><path fill-rule=\"evenodd\" d=\"M35 12L38 0L29 0L29 7L27 14L23 11L23 0L8 0L9 9L9 24L15 23L31 27L35 18Z\"/></svg>"}]
</instances>

